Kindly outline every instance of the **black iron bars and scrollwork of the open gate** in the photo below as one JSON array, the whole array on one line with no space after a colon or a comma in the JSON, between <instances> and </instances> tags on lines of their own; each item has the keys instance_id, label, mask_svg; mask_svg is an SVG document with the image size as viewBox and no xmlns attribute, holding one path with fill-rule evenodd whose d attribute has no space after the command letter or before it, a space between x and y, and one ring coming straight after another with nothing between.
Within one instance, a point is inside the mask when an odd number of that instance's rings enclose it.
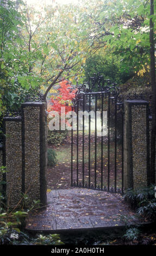
<instances>
[{"instance_id":1,"label":"black iron bars and scrollwork of the open gate","mask_svg":"<svg viewBox=\"0 0 156 256\"><path fill-rule=\"evenodd\" d=\"M96 81L97 82L97 81ZM102 85L102 86L101 86ZM77 177L76 180L73 181L73 145L71 148L71 161L72 161L72 167L71 167L71 175L72 175L72 182L71 184L73 186L77 186L77 187L85 187L85 188L92 188L94 190L102 190L102 191L108 191L108 192L114 192L114 193L123 193L123 114L124 114L124 107L123 107L123 100L121 98L122 95L119 95L119 89L116 87L116 84L112 84L113 86L110 86L111 84L109 83L108 86L104 86L104 84L101 84L100 86L98 86L98 88L101 90L101 92L91 92L91 89L95 88L94 84L91 84L91 88L89 87L88 89L88 83L84 83L82 86L79 87L78 89L78 93L76 93L76 98L73 100L73 106L74 106L74 110L77 111L77 164L76 164L76 173L77 173ZM118 96L119 95L119 96ZM103 162L103 143L104 143L104 137L103 137L103 110L104 110L104 97L105 100L107 100L107 170L105 170L104 167L104 162ZM88 182L85 179L85 116L83 114L82 117L82 121L83 121L83 135L82 135L82 172L80 172L80 174L82 174L82 178L81 178L81 182L79 182L79 168L80 165L78 163L79 160L79 118L78 118L78 111L79 111L79 107L81 106L81 109L83 109L83 113L85 112L85 103L86 100L88 100L89 98L89 108L87 110L89 110L89 112L91 111L91 99L95 99L95 137L94 138L94 180L91 180L91 115L89 114L89 135L88 135L88 140L89 140L89 147L88 147ZM85 100L86 99L86 100ZM99 143L101 143L101 166L99 166L99 168L101 168L101 173L99 172L99 174L97 175L97 100L100 99L101 101L101 105L102 107L101 109L101 118L99 120L99 122L102 124L101 127L101 139L99 140ZM119 99L119 100L117 100ZM114 107L110 105L113 105ZM118 107L120 108L118 111ZM112 113L113 111L113 113ZM121 111L121 112L120 112ZM122 144L122 159L121 159L121 164L122 164L122 168L120 175L122 176L122 182L121 185L122 189L120 190L120 187L117 188L117 114L121 113L122 117L121 117L121 121L122 121L122 126L121 126L121 144ZM111 119L113 118L113 119ZM73 120L73 119L72 119ZM113 127L112 127L112 120L113 121ZM73 123L73 122L72 122ZM114 130L114 143L110 144L110 139L111 136L113 135L113 133L111 132L111 128L113 128ZM73 133L71 136L71 142L73 143ZM100 146L100 145L99 145ZM111 161L111 151L110 148L113 146L114 148L114 164ZM110 162L111 161L111 162ZM113 172L113 170L110 170L111 165L113 164L114 166L114 181L112 180L112 177L110 176L110 174ZM105 181L104 181L104 174L105 172L107 172L107 185L105 185ZM92 177L93 178L93 177ZM97 181L98 178L98 181ZM94 181L94 182L93 182ZM121 180L120 180L121 181ZM98 182L98 183L97 183ZM99 184L99 182L101 182L101 184ZM111 182L111 183L110 183ZM94 183L94 185L93 185Z\"/></svg>"}]
</instances>

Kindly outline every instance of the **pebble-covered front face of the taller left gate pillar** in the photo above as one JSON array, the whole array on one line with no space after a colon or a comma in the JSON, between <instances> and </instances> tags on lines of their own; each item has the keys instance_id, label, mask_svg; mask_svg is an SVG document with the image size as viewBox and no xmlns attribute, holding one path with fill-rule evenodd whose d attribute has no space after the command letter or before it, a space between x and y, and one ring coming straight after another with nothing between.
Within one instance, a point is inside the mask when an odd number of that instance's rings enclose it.
<instances>
[{"instance_id":1,"label":"pebble-covered front face of the taller left gate pillar","mask_svg":"<svg viewBox=\"0 0 156 256\"><path fill-rule=\"evenodd\" d=\"M29 200L40 198L40 107L24 108L25 192Z\"/></svg>"}]
</instances>

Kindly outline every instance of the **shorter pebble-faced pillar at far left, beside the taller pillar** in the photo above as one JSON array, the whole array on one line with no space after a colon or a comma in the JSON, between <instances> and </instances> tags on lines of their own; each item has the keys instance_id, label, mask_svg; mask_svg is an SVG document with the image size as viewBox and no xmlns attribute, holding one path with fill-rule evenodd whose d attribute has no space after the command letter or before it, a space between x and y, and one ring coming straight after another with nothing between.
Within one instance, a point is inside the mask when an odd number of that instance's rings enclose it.
<instances>
[{"instance_id":1,"label":"shorter pebble-faced pillar at far left, beside the taller pillar","mask_svg":"<svg viewBox=\"0 0 156 256\"><path fill-rule=\"evenodd\" d=\"M5 192L7 205L14 208L22 199L22 141L21 117L4 118L5 145L4 155L7 173ZM4 160L3 160L4 162Z\"/></svg>"}]
</instances>

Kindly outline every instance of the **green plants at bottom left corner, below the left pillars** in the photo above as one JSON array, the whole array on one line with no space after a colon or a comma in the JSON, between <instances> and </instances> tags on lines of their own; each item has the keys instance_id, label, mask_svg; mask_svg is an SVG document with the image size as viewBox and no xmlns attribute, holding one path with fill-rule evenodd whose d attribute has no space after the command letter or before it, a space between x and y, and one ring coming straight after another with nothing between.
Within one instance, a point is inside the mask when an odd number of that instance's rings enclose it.
<instances>
[{"instance_id":1,"label":"green plants at bottom left corner, below the left pillars","mask_svg":"<svg viewBox=\"0 0 156 256\"><path fill-rule=\"evenodd\" d=\"M4 166L0 167L0 174L6 173L7 170ZM2 181L0 182L0 186ZM26 205L28 197L26 194L23 196L23 203ZM39 234L37 237L30 236L24 231L25 219L28 212L33 209L40 208L39 200L33 202L30 208L17 205L17 208L8 209L4 204L4 196L0 193L0 245L63 245L60 237L57 234L43 236Z\"/></svg>"}]
</instances>

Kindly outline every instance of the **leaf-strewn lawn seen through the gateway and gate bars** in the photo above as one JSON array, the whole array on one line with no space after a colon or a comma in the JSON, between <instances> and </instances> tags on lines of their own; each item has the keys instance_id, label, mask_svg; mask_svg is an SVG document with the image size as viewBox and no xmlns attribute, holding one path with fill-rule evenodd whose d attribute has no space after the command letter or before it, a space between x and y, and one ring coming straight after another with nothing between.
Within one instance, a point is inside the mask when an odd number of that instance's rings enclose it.
<instances>
[{"instance_id":1,"label":"leaf-strewn lawn seen through the gateway and gate bars","mask_svg":"<svg viewBox=\"0 0 156 256\"><path fill-rule=\"evenodd\" d=\"M78 178L79 183L82 183L83 174L83 136L82 131L79 131L78 140ZM71 186L71 132L68 133L67 139L59 147L48 145L49 148L54 148L57 153L58 163L54 167L48 167L48 188L68 188ZM110 187L114 187L114 142L110 142ZM96 154L96 176L97 187L101 186L101 137L97 137L97 154ZM89 142L88 133L84 136L84 182L88 184L89 179ZM95 136L91 134L90 145L90 174L91 185L95 182ZM73 182L77 180L77 135L73 132ZM108 139L103 138L103 186L107 187L108 180ZM117 144L117 188L121 188L121 144Z\"/></svg>"}]
</instances>

